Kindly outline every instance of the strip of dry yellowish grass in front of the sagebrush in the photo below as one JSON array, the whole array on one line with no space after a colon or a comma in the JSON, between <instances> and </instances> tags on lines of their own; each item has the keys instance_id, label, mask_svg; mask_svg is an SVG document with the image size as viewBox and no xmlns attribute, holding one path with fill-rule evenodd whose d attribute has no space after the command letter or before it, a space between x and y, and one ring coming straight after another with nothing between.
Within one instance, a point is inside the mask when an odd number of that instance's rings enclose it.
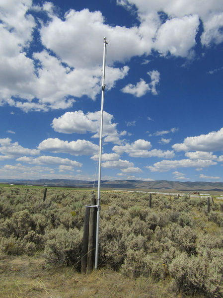
<instances>
[{"instance_id":1,"label":"strip of dry yellowish grass in front of the sagebrush","mask_svg":"<svg viewBox=\"0 0 223 298\"><path fill-rule=\"evenodd\" d=\"M33 257L0 255L0 298L186 297L174 294L170 283L128 279L109 269L82 275L68 267L49 267L38 254Z\"/></svg>"}]
</instances>

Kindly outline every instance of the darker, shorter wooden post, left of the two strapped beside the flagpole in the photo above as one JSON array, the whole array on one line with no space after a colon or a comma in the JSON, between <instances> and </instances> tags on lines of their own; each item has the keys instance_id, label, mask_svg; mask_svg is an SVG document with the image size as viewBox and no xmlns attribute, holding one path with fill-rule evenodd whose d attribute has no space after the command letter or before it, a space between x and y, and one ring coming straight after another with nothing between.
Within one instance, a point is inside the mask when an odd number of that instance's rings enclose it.
<instances>
[{"instance_id":1,"label":"darker, shorter wooden post, left of the two strapped beside the flagpole","mask_svg":"<svg viewBox=\"0 0 223 298\"><path fill-rule=\"evenodd\" d=\"M90 207L85 207L84 225L83 225L82 257L81 257L81 273L84 273L84 274L86 273L86 270L87 270L89 215L90 215Z\"/></svg>"}]
</instances>

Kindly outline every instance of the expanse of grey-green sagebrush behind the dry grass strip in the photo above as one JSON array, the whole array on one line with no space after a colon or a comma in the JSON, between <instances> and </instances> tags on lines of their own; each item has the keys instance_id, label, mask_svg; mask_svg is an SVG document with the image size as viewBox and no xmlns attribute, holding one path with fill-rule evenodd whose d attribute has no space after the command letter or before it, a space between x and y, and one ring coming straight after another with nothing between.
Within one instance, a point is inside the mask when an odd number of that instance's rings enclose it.
<instances>
[{"instance_id":1,"label":"expanse of grey-green sagebrush behind the dry grass strip","mask_svg":"<svg viewBox=\"0 0 223 298\"><path fill-rule=\"evenodd\" d=\"M46 261L80 269L90 191L0 187L0 249L44 251ZM99 266L130 277L173 281L177 292L223 297L223 204L207 199L102 191Z\"/></svg>"}]
</instances>

